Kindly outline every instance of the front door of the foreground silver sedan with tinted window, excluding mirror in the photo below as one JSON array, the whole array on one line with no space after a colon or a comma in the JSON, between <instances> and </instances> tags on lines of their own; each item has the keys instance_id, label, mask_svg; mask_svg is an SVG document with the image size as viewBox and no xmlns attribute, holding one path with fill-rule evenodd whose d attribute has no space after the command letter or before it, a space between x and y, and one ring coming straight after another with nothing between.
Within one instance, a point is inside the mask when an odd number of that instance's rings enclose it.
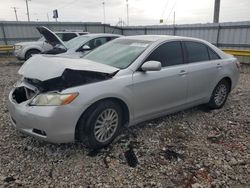
<instances>
[{"instance_id":1,"label":"front door of the foreground silver sedan with tinted window, excluding mirror","mask_svg":"<svg viewBox=\"0 0 250 188\"><path fill-rule=\"evenodd\" d=\"M187 71L179 41L156 48L146 61L159 61L160 71L136 71L133 74L135 121L160 115L183 105L187 97Z\"/></svg>"}]
</instances>

